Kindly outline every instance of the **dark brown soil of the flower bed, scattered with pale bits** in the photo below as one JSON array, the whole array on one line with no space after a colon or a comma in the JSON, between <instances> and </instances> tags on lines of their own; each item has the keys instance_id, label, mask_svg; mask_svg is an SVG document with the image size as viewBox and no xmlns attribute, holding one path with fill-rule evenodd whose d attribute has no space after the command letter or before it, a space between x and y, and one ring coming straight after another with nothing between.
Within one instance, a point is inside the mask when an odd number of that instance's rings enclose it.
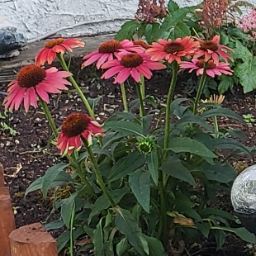
<instances>
[{"instance_id":1,"label":"dark brown soil of the flower bed, scattered with pale bits","mask_svg":"<svg viewBox=\"0 0 256 256\"><path fill-rule=\"evenodd\" d=\"M154 95L159 98L159 102L164 101L168 92L168 83L170 75L168 73L156 73L154 78L146 83L146 94ZM97 121L102 123L113 111L121 111L121 94L118 85L114 85L111 81L104 83L99 78L95 78L95 73L88 69L88 75L80 74L80 84L83 92L87 97L101 96L101 101L97 107ZM184 97L183 85L178 84L176 90L177 97ZM136 97L135 88L127 85L128 101ZM0 84L0 92L7 91L7 84ZM4 116L4 107L2 101L5 96L0 93L0 112L2 117L0 122L5 122L7 126L17 131L16 135L12 135L10 130L4 130L0 126L0 152L4 166L4 173L7 186L10 187L12 195L13 207L16 210L17 227L21 225L31 224L32 222L45 223L50 213L50 202L43 201L38 192L28 195L24 200L24 192L26 188L36 178L42 176L46 169L52 164L61 161L58 150L51 146L47 149L47 141L50 137L50 128L45 121L43 111L31 107L30 111L13 111ZM186 97L186 95L185 95ZM225 97L224 107L228 107L239 115L251 114L256 116L255 94L250 93L244 95L242 90L236 90L235 94L228 93ZM50 111L55 117L57 126L60 126L64 116L73 111L85 111L83 102L78 95L70 88L69 93L62 93L60 96L53 96L50 105ZM220 120L220 126L232 126L227 123L225 118ZM235 123L234 126L239 128L248 136L246 145L254 146L256 144L256 123L252 122L251 126L244 126ZM250 160L240 157L234 162L243 165L250 164ZM225 204L227 209L232 211L230 199L227 198L222 205ZM223 206L221 206L223 207ZM249 247L235 235L228 235L222 249L216 252L216 244L214 239L209 239L202 243L201 249L191 249L190 254L199 255L250 255ZM80 255L80 254L79 254ZM81 254L82 255L82 254Z\"/></svg>"}]
</instances>

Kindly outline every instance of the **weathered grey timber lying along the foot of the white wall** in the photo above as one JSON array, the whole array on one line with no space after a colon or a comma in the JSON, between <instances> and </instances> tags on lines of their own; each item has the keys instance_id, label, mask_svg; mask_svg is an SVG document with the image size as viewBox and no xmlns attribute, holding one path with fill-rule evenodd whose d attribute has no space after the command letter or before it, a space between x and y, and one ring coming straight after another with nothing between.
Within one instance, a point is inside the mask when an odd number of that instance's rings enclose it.
<instances>
[{"instance_id":1,"label":"weathered grey timber lying along the foot of the white wall","mask_svg":"<svg viewBox=\"0 0 256 256\"><path fill-rule=\"evenodd\" d=\"M85 43L84 48L78 47L73 49L72 55L75 58L87 55L93 50L97 50L98 46L107 40L112 40L115 35L104 35L104 36L91 36L91 37L80 37ZM21 54L12 59L0 59L0 83L7 84L13 79L17 78L17 71L25 65L34 64L36 54L45 47L45 42L48 40L40 40L27 45L27 49L21 51Z\"/></svg>"}]
</instances>

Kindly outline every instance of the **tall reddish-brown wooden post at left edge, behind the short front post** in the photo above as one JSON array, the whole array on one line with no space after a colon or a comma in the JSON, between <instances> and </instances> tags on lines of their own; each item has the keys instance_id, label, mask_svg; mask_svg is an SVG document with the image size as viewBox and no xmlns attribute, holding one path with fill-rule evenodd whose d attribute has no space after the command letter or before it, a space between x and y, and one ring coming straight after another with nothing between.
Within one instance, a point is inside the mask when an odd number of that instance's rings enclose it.
<instances>
[{"instance_id":1,"label":"tall reddish-brown wooden post at left edge, behind the short front post","mask_svg":"<svg viewBox=\"0 0 256 256\"><path fill-rule=\"evenodd\" d=\"M11 256L9 235L12 230L15 230L15 220L9 188L0 187L0 256Z\"/></svg>"}]
</instances>

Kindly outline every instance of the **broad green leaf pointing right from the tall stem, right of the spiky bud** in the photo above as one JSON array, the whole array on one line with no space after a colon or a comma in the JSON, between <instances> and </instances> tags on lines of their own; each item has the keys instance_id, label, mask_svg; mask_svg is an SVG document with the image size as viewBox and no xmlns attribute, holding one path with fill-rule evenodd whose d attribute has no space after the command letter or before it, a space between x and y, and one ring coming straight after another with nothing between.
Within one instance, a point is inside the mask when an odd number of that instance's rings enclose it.
<instances>
[{"instance_id":1,"label":"broad green leaf pointing right from the tall stem, right of the spiky bud","mask_svg":"<svg viewBox=\"0 0 256 256\"><path fill-rule=\"evenodd\" d=\"M168 149L175 153L189 152L191 154L197 154L201 157L216 158L216 154L213 154L210 149L201 144L197 140L192 140L187 137L176 137L169 142Z\"/></svg>"}]
</instances>

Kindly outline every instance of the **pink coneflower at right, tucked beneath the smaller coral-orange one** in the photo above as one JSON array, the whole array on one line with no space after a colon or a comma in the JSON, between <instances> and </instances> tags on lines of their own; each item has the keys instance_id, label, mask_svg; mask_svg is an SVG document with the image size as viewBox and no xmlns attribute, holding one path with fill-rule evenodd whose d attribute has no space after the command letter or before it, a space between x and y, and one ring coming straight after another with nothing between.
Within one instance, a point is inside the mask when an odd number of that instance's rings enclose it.
<instances>
[{"instance_id":1,"label":"pink coneflower at right, tucked beneath the smaller coral-orange one","mask_svg":"<svg viewBox=\"0 0 256 256\"><path fill-rule=\"evenodd\" d=\"M206 63L205 59L192 59L192 62L183 61L180 64L181 69L190 69L188 72L192 73L193 70L197 70L197 76L203 73L203 66ZM215 64L213 60L208 60L206 74L211 78L214 78L215 75L232 74L233 70L230 69L230 64L228 63L218 63Z\"/></svg>"}]
</instances>

